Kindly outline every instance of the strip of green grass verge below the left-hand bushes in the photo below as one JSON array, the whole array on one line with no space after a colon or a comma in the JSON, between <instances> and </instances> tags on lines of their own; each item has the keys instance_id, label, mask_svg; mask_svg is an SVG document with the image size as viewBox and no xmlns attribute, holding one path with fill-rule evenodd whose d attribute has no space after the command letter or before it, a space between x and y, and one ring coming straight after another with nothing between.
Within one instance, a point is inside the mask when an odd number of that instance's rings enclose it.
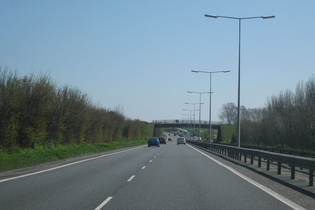
<instances>
[{"instance_id":1,"label":"strip of green grass verge below the left-hand bushes","mask_svg":"<svg viewBox=\"0 0 315 210\"><path fill-rule=\"evenodd\" d=\"M82 156L103 151L117 150L137 145L147 144L143 141L112 142L99 145L48 145L36 146L35 149L1 149L0 172L23 168L40 163L61 160L68 157Z\"/></svg>"}]
</instances>

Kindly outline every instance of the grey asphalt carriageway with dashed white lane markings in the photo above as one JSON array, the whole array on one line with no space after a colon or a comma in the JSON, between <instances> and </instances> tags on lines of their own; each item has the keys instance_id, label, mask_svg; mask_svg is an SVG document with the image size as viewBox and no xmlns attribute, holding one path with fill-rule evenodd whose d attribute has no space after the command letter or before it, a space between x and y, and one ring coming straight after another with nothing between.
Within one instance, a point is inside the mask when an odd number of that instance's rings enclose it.
<instances>
[{"instance_id":1,"label":"grey asphalt carriageway with dashed white lane markings","mask_svg":"<svg viewBox=\"0 0 315 210\"><path fill-rule=\"evenodd\" d=\"M295 192L280 195L171 137L159 148L136 147L33 175L8 176L0 180L0 209L279 210L313 205L294 203L285 197Z\"/></svg>"}]
</instances>

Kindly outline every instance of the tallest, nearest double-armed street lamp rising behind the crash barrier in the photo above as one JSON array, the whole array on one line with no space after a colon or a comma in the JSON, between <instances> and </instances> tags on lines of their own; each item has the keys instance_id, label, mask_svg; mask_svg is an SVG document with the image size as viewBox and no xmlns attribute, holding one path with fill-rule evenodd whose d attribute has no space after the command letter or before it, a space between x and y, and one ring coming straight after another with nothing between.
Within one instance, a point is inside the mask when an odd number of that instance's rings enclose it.
<instances>
[{"instance_id":1,"label":"tallest, nearest double-armed street lamp rising behind the crash barrier","mask_svg":"<svg viewBox=\"0 0 315 210\"><path fill-rule=\"evenodd\" d=\"M218 15L205 15L208 18L231 18L231 19L238 19L239 20L239 47L238 47L238 97L237 97L237 146L240 147L240 134L241 134L241 125L240 125L240 80L241 80L241 20L242 19L253 19L253 18L274 18L276 16L269 15L269 16L260 16L260 17L249 17L249 18L235 18L235 17L225 17L225 16L218 16Z\"/></svg>"}]
</instances>

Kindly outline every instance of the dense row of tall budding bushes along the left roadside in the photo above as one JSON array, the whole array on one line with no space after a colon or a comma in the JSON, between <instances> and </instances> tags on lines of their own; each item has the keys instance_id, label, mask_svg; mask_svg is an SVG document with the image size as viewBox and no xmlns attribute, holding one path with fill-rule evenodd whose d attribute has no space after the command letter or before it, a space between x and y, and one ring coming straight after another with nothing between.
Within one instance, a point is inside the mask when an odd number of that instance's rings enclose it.
<instances>
[{"instance_id":1,"label":"dense row of tall budding bushes along the left roadside","mask_svg":"<svg viewBox=\"0 0 315 210\"><path fill-rule=\"evenodd\" d=\"M47 74L19 76L0 66L0 146L98 144L144 140L148 123L125 117L123 107L104 108L86 92L58 86Z\"/></svg>"}]
</instances>

